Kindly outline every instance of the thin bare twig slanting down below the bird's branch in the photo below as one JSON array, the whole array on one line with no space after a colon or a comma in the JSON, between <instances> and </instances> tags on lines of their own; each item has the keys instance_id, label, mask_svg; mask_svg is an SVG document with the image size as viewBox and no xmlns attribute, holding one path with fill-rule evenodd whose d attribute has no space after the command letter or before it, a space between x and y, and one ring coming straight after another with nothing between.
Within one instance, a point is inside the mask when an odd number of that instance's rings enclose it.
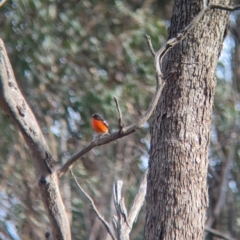
<instances>
[{"instance_id":1,"label":"thin bare twig slanting down below the bird's branch","mask_svg":"<svg viewBox=\"0 0 240 240\"><path fill-rule=\"evenodd\" d=\"M73 174L72 170L70 170L73 179L75 181L75 183L77 184L78 188L81 190L81 192L86 196L86 198L88 199L88 201L90 202L93 211L96 213L98 219L102 222L102 224L104 225L104 227L106 228L107 232L110 234L110 236L112 237L113 240L116 240L116 238L114 237L114 234L112 232L112 229L110 228L109 224L107 223L107 221L104 219L104 217L99 213L94 201L92 200L92 198L84 191L84 189L81 187L81 185L78 183L75 175Z\"/></svg>"}]
</instances>

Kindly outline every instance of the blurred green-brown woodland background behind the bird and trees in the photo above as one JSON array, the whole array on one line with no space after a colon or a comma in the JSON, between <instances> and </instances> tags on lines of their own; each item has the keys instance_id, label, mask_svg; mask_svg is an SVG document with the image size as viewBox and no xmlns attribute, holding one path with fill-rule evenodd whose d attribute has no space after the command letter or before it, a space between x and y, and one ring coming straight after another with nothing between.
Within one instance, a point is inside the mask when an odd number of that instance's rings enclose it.
<instances>
[{"instance_id":1,"label":"blurred green-brown woodland background behind the bird and trees","mask_svg":"<svg viewBox=\"0 0 240 240\"><path fill-rule=\"evenodd\" d=\"M125 125L148 107L155 89L153 58L166 41L173 1L9 0L0 8L0 37L19 87L47 139L57 167L93 138L90 117L101 113L112 131L119 100ZM231 15L223 45L209 151L207 226L240 239L240 14ZM101 146L73 171L110 222L113 182L124 181L129 207L147 168L149 126ZM0 114L0 239L44 239L49 222L31 154L16 127ZM60 182L73 239L110 239L70 174ZM144 207L131 234L143 239ZM206 233L206 239L214 239ZM216 239L216 238L215 238Z\"/></svg>"}]
</instances>

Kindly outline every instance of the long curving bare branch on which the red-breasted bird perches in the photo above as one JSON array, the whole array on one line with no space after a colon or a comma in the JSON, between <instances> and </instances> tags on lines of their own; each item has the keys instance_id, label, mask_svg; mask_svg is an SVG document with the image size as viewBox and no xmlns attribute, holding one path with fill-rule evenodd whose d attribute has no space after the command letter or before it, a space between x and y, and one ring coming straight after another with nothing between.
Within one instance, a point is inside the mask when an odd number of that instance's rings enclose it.
<instances>
[{"instance_id":1,"label":"long curving bare branch on which the red-breasted bird perches","mask_svg":"<svg viewBox=\"0 0 240 240\"><path fill-rule=\"evenodd\" d=\"M181 42L187 34L197 25L197 23L202 19L204 14L213 9L213 8L221 8L223 10L229 9L229 7L222 7L222 5L210 5L206 6L206 2L204 4L203 9L198 13L198 15L183 29L181 33L178 33L176 37L171 38L167 41L167 43L157 52L154 54L154 66L155 66L155 71L156 71L156 80L157 80L157 85L156 85L156 91L155 94L152 98L152 101L149 105L148 110L145 112L145 114L139 119L139 121L131 126L125 127L122 129L121 132L118 133L113 133L111 135L105 136L104 138L101 139L95 139L92 142L90 142L86 147L84 147L82 150L74 154L59 170L58 174L59 177L61 177L63 174L65 174L69 169L72 168L73 164L84 154L89 152L91 149L93 149L96 146L101 146L104 144L107 144L109 142L115 141L116 139L122 138L124 136L127 136L140 128L144 125L144 123L149 119L149 117L152 115L153 110L155 109L158 99L161 95L162 89L165 86L164 80L166 79L166 76L163 75L162 73L162 62L163 58L166 56L166 54L169 52L170 49L172 49L174 46L176 46L179 42ZM237 10L238 7L232 8L232 11ZM147 42L148 44L150 43L150 49L151 49L151 42L148 37ZM152 51L152 54L154 51Z\"/></svg>"}]
</instances>

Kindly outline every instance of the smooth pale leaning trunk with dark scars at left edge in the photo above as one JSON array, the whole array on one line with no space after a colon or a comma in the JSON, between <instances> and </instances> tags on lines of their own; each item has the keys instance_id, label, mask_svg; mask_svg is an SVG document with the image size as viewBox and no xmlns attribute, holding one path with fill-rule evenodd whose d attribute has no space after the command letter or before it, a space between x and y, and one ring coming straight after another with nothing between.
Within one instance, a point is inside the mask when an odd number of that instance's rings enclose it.
<instances>
[{"instance_id":1,"label":"smooth pale leaning trunk with dark scars at left edge","mask_svg":"<svg viewBox=\"0 0 240 240\"><path fill-rule=\"evenodd\" d=\"M1 39L0 108L16 124L32 151L39 190L51 223L51 234L47 232L45 237L53 240L70 240L70 226L59 192L58 174L53 168L52 157L35 116L18 88Z\"/></svg>"}]
</instances>

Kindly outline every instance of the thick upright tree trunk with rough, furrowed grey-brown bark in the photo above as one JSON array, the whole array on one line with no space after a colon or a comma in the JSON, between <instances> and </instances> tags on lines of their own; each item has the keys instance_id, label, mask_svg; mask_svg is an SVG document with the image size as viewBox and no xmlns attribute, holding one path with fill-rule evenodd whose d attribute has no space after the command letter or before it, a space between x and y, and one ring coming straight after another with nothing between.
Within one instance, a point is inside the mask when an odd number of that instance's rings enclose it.
<instances>
[{"instance_id":1,"label":"thick upright tree trunk with rough, furrowed grey-brown bark","mask_svg":"<svg viewBox=\"0 0 240 240\"><path fill-rule=\"evenodd\" d=\"M209 1L229 5L231 0ZM175 0L170 37L190 23L202 1ZM211 10L168 54L171 73L151 126L145 239L203 239L215 69L229 13Z\"/></svg>"}]
</instances>

